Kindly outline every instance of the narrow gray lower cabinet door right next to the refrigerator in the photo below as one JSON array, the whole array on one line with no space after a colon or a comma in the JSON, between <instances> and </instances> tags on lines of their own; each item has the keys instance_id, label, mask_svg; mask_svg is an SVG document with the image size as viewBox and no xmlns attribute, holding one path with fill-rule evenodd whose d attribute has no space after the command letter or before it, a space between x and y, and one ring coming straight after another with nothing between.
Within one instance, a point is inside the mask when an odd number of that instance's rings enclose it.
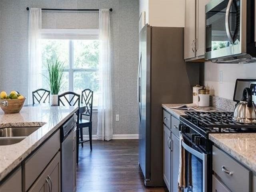
<instances>
[{"instance_id":1,"label":"narrow gray lower cabinet door right next to the refrigerator","mask_svg":"<svg viewBox=\"0 0 256 192\"><path fill-rule=\"evenodd\" d=\"M164 182L170 191L171 187L171 150L170 150L170 142L171 142L171 132L164 125L164 139L163 139L163 178Z\"/></svg>"}]
</instances>

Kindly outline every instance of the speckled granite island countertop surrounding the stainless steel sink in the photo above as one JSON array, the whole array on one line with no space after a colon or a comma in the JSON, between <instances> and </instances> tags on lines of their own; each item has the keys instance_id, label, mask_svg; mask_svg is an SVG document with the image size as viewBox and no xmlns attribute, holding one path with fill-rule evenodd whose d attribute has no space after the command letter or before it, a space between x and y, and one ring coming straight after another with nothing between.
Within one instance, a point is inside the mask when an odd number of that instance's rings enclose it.
<instances>
[{"instance_id":1,"label":"speckled granite island countertop surrounding the stainless steel sink","mask_svg":"<svg viewBox=\"0 0 256 192\"><path fill-rule=\"evenodd\" d=\"M78 107L23 107L20 113L4 114L0 110L0 128L42 126L27 138L12 145L0 146L0 180L46 140L61 124L72 116Z\"/></svg>"}]
</instances>

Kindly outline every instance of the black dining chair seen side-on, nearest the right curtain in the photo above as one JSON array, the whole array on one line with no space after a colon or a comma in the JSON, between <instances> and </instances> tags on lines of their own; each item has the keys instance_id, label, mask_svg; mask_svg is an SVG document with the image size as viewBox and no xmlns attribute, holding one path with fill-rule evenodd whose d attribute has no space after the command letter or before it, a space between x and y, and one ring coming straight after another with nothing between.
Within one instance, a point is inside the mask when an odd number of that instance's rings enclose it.
<instances>
[{"instance_id":1,"label":"black dining chair seen side-on, nearest the right curtain","mask_svg":"<svg viewBox=\"0 0 256 192\"><path fill-rule=\"evenodd\" d=\"M82 147L84 142L90 141L90 150L92 150L92 100L93 91L90 89L85 89L82 91L81 103L84 104L84 111L80 112L79 129L80 129L80 142ZM87 116L88 119L83 119L83 116ZM89 130L89 140L83 139L83 128L88 127Z\"/></svg>"}]
</instances>

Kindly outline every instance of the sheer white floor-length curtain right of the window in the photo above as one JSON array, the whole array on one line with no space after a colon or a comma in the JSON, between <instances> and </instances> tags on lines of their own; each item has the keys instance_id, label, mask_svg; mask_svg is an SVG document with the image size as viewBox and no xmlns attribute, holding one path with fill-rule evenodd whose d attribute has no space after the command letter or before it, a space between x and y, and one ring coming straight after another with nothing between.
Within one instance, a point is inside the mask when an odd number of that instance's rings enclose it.
<instances>
[{"instance_id":1,"label":"sheer white floor-length curtain right of the window","mask_svg":"<svg viewBox=\"0 0 256 192\"><path fill-rule=\"evenodd\" d=\"M108 9L99 12L100 67L97 137L100 140L113 138L112 93L110 64L110 16Z\"/></svg>"}]
</instances>

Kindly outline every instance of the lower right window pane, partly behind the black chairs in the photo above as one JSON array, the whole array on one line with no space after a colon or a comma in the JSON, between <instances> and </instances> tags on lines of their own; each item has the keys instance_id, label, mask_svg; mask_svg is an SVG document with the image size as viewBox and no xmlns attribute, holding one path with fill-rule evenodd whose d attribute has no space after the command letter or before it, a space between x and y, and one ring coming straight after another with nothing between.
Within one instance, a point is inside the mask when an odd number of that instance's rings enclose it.
<instances>
[{"instance_id":1,"label":"lower right window pane, partly behind the black chairs","mask_svg":"<svg viewBox=\"0 0 256 192\"><path fill-rule=\"evenodd\" d=\"M76 71L74 72L74 92L81 94L82 90L90 88L93 91L93 106L98 106L98 72Z\"/></svg>"}]
</instances>

